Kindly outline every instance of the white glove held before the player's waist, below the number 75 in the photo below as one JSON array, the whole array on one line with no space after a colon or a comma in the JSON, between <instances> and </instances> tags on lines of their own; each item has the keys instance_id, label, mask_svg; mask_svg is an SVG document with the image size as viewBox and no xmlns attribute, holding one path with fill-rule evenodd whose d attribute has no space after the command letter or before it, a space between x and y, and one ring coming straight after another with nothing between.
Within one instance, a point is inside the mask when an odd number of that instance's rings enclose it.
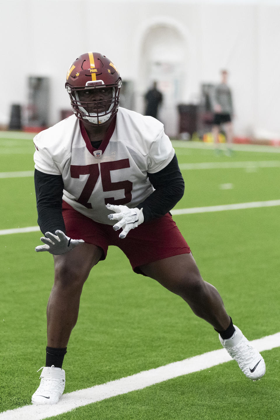
<instances>
[{"instance_id":1,"label":"white glove held before the player's waist, below the number 75","mask_svg":"<svg viewBox=\"0 0 280 420\"><path fill-rule=\"evenodd\" d=\"M144 222L143 209L139 208L130 209L127 206L115 206L113 204L106 205L108 210L113 210L115 214L109 214L109 219L116 219L118 222L113 226L115 231L123 228L123 231L119 234L119 238L123 239L126 237L131 229L137 228L141 223Z\"/></svg>"}]
</instances>

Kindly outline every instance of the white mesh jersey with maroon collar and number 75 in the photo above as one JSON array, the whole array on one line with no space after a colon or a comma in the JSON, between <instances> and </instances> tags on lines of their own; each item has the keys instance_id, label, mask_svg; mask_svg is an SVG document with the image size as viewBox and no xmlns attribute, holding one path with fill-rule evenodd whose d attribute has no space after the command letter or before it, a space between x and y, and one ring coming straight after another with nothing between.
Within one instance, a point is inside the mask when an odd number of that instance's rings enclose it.
<instances>
[{"instance_id":1,"label":"white mesh jersey with maroon collar and number 75","mask_svg":"<svg viewBox=\"0 0 280 420\"><path fill-rule=\"evenodd\" d=\"M113 134L99 150L83 137L75 115L41 131L34 144L35 168L62 175L63 200L96 222L112 225L105 204L133 208L143 202L154 191L147 172L165 168L175 154L160 121L125 108L119 108Z\"/></svg>"}]
</instances>

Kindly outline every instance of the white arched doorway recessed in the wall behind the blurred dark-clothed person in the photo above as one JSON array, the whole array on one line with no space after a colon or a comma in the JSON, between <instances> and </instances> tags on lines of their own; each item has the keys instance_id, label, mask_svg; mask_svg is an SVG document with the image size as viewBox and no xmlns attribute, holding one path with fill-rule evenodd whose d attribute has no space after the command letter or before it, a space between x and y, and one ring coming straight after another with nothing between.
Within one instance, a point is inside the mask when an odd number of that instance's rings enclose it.
<instances>
[{"instance_id":1,"label":"white arched doorway recessed in the wall behind the blurred dark-clothed person","mask_svg":"<svg viewBox=\"0 0 280 420\"><path fill-rule=\"evenodd\" d=\"M154 24L147 29L141 45L141 87L145 92L157 81L163 94L158 119L169 136L178 134L177 105L186 83L186 42L174 26ZM144 99L143 110L144 112Z\"/></svg>"}]
</instances>

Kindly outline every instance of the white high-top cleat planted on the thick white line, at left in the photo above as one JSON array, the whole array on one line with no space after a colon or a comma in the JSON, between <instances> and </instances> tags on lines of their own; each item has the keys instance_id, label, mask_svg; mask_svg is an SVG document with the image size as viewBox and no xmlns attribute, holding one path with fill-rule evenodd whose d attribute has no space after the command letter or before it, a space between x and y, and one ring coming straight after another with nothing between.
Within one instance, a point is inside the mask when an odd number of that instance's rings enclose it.
<instances>
[{"instance_id":1,"label":"white high-top cleat planted on the thick white line, at left","mask_svg":"<svg viewBox=\"0 0 280 420\"><path fill-rule=\"evenodd\" d=\"M32 404L57 404L65 388L65 370L54 365L41 369L41 383L32 395Z\"/></svg>"}]
</instances>

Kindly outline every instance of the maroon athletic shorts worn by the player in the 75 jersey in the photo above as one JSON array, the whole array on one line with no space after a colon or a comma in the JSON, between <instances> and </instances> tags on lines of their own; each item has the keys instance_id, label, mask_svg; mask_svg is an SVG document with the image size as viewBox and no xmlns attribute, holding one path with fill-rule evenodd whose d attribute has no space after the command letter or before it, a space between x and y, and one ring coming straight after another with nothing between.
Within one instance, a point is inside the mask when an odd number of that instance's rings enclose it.
<instances>
[{"instance_id":1,"label":"maroon athletic shorts worn by the player in the 75 jersey","mask_svg":"<svg viewBox=\"0 0 280 420\"><path fill-rule=\"evenodd\" d=\"M114 231L112 225L97 223L74 210L63 201L62 214L66 234L72 239L84 239L89 244L103 249L105 260L109 245L120 248L128 257L133 270L143 274L138 268L174 255L189 254L188 244L179 231L170 214L139 225L128 232L124 239L119 238L120 231Z\"/></svg>"}]
</instances>

